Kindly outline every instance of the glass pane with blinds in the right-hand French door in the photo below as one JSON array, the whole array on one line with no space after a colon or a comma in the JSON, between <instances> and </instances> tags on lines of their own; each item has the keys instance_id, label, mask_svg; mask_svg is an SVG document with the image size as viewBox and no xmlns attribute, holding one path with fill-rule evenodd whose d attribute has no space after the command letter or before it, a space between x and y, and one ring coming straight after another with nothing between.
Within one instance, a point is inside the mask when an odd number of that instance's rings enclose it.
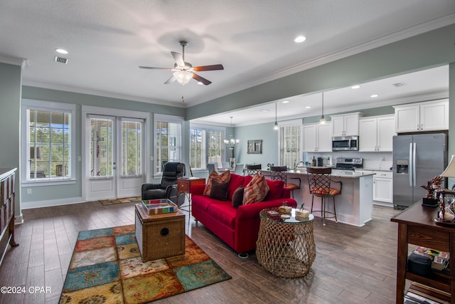
<instances>
[{"instance_id":1,"label":"glass pane with blinds in the right-hand French door","mask_svg":"<svg viewBox=\"0 0 455 304\"><path fill-rule=\"evenodd\" d=\"M142 174L142 122L122 120L122 176Z\"/></svg>"}]
</instances>

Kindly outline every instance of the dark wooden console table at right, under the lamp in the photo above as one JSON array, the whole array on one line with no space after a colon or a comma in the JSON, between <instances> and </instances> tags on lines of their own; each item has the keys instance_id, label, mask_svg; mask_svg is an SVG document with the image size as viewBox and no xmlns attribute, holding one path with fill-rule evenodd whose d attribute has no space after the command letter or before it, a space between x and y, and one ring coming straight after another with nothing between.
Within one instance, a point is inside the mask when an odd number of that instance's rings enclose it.
<instances>
[{"instance_id":1,"label":"dark wooden console table at right, under the lamp","mask_svg":"<svg viewBox=\"0 0 455 304\"><path fill-rule=\"evenodd\" d=\"M455 304L455 226L435 224L438 211L439 208L422 206L422 201L417 201L390 219L398 223L396 303L403 303L408 279L450 293L451 303ZM424 277L407 272L408 244L449 252L450 276L432 272Z\"/></svg>"}]
</instances>

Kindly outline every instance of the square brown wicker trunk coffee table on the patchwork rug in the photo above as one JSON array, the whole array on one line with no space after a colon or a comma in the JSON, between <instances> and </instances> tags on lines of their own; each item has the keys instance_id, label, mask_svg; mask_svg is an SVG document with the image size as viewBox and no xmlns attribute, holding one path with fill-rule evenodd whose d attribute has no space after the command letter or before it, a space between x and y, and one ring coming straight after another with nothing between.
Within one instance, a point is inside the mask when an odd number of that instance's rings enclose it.
<instances>
[{"instance_id":1,"label":"square brown wicker trunk coffee table on the patchwork rug","mask_svg":"<svg viewBox=\"0 0 455 304\"><path fill-rule=\"evenodd\" d=\"M136 204L136 240L142 261L185 254L185 214L149 215L143 204Z\"/></svg>"}]
</instances>

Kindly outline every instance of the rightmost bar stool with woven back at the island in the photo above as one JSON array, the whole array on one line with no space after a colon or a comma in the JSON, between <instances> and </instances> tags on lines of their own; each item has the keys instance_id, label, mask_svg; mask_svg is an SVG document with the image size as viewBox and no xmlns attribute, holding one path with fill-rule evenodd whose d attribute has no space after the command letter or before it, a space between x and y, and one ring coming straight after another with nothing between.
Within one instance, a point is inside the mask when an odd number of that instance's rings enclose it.
<instances>
[{"instance_id":1,"label":"rightmost bar stool with woven back at the island","mask_svg":"<svg viewBox=\"0 0 455 304\"><path fill-rule=\"evenodd\" d=\"M310 193L313 195L311 197L311 213L313 213L314 196L319 196L321 197L321 210L315 210L314 212L321 212L323 226L326 226L326 218L335 218L335 222L338 223L338 219L336 219L335 196L341 194L343 184L332 181L331 168L307 167L306 173L308 175ZM340 189L333 189L331 187L332 182L340 184ZM333 199L333 212L326 211L328 197ZM333 216L327 217L326 213L333 214Z\"/></svg>"}]
</instances>

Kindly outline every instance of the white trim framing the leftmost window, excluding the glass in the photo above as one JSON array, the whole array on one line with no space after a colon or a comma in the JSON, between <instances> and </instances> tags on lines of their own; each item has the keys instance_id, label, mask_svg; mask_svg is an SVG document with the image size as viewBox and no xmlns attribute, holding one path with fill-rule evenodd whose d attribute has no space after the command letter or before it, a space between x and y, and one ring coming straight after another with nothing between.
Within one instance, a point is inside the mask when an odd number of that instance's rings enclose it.
<instances>
[{"instance_id":1,"label":"white trim framing the leftmost window, excluding the glass","mask_svg":"<svg viewBox=\"0 0 455 304\"><path fill-rule=\"evenodd\" d=\"M27 179L27 132L28 132L28 121L27 110L42 110L42 111L62 111L71 113L71 149L70 149L70 169L71 176L65 179L63 178L47 178L43 180L30 180ZM47 100L33 100L33 99L22 99L21 103L21 184L26 184L27 187L33 186L46 186L46 185L57 185L57 184L75 184L76 181L76 105L69 103L56 103L54 101Z\"/></svg>"}]
</instances>

